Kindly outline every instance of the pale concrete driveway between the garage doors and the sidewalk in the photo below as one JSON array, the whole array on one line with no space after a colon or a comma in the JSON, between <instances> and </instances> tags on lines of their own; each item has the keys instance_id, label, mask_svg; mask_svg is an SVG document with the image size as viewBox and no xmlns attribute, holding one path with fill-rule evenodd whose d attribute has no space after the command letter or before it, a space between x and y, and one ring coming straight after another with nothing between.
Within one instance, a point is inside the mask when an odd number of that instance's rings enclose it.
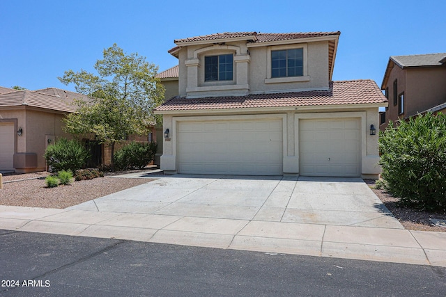
<instances>
[{"instance_id":1,"label":"pale concrete driveway between the garage doors and the sidewalk","mask_svg":"<svg viewBox=\"0 0 446 297\"><path fill-rule=\"evenodd\" d=\"M71 209L403 229L360 178L175 175Z\"/></svg>"}]
</instances>

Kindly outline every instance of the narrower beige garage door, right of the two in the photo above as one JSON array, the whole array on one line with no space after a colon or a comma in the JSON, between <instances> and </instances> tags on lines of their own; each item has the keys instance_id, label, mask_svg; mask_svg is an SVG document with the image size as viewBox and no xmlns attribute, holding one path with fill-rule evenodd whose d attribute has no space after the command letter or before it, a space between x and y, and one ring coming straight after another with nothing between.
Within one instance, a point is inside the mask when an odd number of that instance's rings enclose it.
<instances>
[{"instance_id":1,"label":"narrower beige garage door, right of the two","mask_svg":"<svg viewBox=\"0 0 446 297\"><path fill-rule=\"evenodd\" d=\"M359 118L299 121L300 175L360 176Z\"/></svg>"}]
</instances>

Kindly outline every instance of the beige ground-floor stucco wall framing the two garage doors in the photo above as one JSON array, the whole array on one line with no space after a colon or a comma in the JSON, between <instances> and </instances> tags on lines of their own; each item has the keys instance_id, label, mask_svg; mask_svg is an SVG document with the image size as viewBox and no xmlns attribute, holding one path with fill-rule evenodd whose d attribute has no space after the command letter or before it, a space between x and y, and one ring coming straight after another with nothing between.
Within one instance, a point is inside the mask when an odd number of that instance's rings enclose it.
<instances>
[{"instance_id":1,"label":"beige ground-floor stucco wall framing the two garage doors","mask_svg":"<svg viewBox=\"0 0 446 297\"><path fill-rule=\"evenodd\" d=\"M370 125L378 127L378 107L369 108L344 108L344 109L309 109L295 110L284 109L283 111L259 111L256 113L240 114L239 110L219 111L218 113L178 113L174 115L164 115L163 130L169 129L170 138L164 139L163 154L161 156L161 169L166 172L176 172L177 166L177 150L176 133L178 131L178 122L182 120L215 120L215 116L229 115L228 119L249 119L252 115L264 116L268 118L271 114L280 115L284 121L284 174L299 174L299 133L298 120L300 118L316 119L316 118L358 118L361 122L361 175L362 177L376 178L380 173L378 166L378 134L370 135Z\"/></svg>"}]
</instances>

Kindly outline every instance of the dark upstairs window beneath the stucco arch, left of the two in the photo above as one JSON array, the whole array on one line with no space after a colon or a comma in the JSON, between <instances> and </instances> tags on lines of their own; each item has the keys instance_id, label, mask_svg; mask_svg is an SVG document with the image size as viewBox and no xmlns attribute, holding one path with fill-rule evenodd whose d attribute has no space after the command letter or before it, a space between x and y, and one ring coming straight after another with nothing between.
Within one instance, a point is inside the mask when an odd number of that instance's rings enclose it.
<instances>
[{"instance_id":1,"label":"dark upstairs window beneath the stucco arch, left of the two","mask_svg":"<svg viewBox=\"0 0 446 297\"><path fill-rule=\"evenodd\" d=\"M204 57L204 81L232 81L232 54Z\"/></svg>"}]
</instances>

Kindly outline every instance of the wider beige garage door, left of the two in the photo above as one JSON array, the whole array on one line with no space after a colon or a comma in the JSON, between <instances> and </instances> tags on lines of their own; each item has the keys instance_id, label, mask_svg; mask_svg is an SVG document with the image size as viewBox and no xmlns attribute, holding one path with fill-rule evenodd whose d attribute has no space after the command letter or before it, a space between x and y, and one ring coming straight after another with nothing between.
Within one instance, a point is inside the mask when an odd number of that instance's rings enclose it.
<instances>
[{"instance_id":1,"label":"wider beige garage door, left of the two","mask_svg":"<svg viewBox=\"0 0 446 297\"><path fill-rule=\"evenodd\" d=\"M180 122L178 172L282 175L282 119Z\"/></svg>"}]
</instances>

